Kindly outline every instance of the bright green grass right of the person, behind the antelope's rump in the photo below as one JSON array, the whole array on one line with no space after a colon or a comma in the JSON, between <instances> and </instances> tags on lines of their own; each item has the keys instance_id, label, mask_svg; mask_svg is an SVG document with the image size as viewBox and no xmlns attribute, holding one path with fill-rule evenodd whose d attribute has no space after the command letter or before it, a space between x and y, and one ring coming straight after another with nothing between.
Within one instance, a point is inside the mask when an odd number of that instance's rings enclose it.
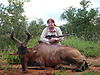
<instances>
[{"instance_id":1,"label":"bright green grass right of the person, behind the antelope's rump","mask_svg":"<svg viewBox=\"0 0 100 75\"><path fill-rule=\"evenodd\" d=\"M61 42L63 45L71 46L78 49L87 57L100 56L99 43L84 41L78 37L67 37Z\"/></svg>"}]
</instances>

